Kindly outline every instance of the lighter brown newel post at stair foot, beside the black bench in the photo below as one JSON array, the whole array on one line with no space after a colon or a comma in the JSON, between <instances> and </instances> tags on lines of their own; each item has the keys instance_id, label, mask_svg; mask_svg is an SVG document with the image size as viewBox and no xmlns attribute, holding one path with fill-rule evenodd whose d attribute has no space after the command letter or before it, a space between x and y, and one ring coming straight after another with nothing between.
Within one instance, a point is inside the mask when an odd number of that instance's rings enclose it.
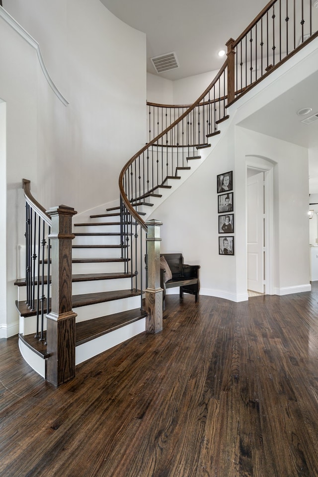
<instances>
[{"instance_id":1,"label":"lighter brown newel post at stair foot, beside the black bench","mask_svg":"<svg viewBox=\"0 0 318 477\"><path fill-rule=\"evenodd\" d=\"M148 288L146 289L146 331L158 333L162 330L162 288L160 287L160 227L162 222L146 222Z\"/></svg>"}]
</instances>

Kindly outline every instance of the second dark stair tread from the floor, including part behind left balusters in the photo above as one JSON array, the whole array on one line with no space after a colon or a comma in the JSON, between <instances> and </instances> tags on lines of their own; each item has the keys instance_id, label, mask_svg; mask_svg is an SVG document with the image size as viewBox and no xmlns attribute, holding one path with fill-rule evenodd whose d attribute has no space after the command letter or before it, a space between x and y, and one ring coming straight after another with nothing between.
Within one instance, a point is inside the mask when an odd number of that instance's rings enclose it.
<instances>
[{"instance_id":1,"label":"second dark stair tread from the floor, including part behind left balusters","mask_svg":"<svg viewBox=\"0 0 318 477\"><path fill-rule=\"evenodd\" d=\"M114 290L110 292L98 292L98 293L85 293L82 295L74 295L72 297L72 308L84 307L87 305L95 305L96 303L110 302L113 300L120 300L122 298L136 297L140 295L140 290ZM46 300L43 302L44 310L46 313ZM32 317L36 314L35 311L29 309L25 301L18 302L15 301L15 306L18 309L22 317ZM35 308L37 307L37 300L34 304ZM51 299L50 299L50 308L51 308ZM40 304L41 310L41 304Z\"/></svg>"}]
</instances>

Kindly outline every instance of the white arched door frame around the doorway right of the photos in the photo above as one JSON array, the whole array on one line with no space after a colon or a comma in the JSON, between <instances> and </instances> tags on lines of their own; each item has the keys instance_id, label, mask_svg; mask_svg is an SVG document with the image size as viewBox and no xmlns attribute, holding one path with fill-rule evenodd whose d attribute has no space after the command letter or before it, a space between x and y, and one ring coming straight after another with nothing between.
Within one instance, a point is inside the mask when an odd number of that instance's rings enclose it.
<instances>
[{"instance_id":1,"label":"white arched door frame around the doorway right of the photos","mask_svg":"<svg viewBox=\"0 0 318 477\"><path fill-rule=\"evenodd\" d=\"M265 234L265 295L274 294L274 165L270 159L260 156L246 156L246 207L247 169L264 172L264 234ZM246 211L247 230L247 211ZM247 237L246 237L247 239ZM247 241L246 241L247 246ZM247 264L246 264L247 266ZM246 277L247 278L247 277Z\"/></svg>"}]
</instances>

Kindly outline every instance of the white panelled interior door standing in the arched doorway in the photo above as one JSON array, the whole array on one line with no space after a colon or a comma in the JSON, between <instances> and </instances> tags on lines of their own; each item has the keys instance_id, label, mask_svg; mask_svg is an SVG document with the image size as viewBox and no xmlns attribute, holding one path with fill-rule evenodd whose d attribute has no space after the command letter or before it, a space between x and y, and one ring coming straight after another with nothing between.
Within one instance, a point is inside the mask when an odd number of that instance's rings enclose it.
<instances>
[{"instance_id":1,"label":"white panelled interior door standing in the arched doorway","mask_svg":"<svg viewBox=\"0 0 318 477\"><path fill-rule=\"evenodd\" d=\"M264 293L264 173L247 178L247 288Z\"/></svg>"}]
</instances>

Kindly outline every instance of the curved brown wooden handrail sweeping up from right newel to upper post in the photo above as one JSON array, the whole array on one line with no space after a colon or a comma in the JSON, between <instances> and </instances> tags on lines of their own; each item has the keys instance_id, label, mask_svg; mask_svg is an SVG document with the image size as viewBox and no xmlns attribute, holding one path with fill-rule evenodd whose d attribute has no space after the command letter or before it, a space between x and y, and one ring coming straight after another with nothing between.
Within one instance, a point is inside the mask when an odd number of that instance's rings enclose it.
<instances>
[{"instance_id":1,"label":"curved brown wooden handrail sweeping up from right newel to upper post","mask_svg":"<svg viewBox=\"0 0 318 477\"><path fill-rule=\"evenodd\" d=\"M126 173L128 167L134 162L135 159L137 159L141 154L143 154L147 149L149 149L151 146L153 146L160 138L162 138L168 131L174 128L178 123L180 123L196 106L199 105L200 101L205 97L206 94L213 88L213 86L217 83L217 81L221 78L222 74L225 72L226 68L228 65L228 60L224 62L222 65L219 73L217 76L212 80L212 82L209 84L209 86L203 91L203 93L198 97L198 99L179 117L177 118L172 124L170 124L164 131L162 131L158 136L156 136L152 141L146 144L140 151L138 151L131 159L126 162L124 167L122 168L120 175L119 175L119 191L120 191L120 196L122 197L122 200L130 213L132 217L138 222L138 224L147 232L147 225L143 221L143 219L140 217L138 212L133 208L129 200L127 199L127 196L124 191L124 186L123 186L123 177L124 174Z\"/></svg>"}]
</instances>

